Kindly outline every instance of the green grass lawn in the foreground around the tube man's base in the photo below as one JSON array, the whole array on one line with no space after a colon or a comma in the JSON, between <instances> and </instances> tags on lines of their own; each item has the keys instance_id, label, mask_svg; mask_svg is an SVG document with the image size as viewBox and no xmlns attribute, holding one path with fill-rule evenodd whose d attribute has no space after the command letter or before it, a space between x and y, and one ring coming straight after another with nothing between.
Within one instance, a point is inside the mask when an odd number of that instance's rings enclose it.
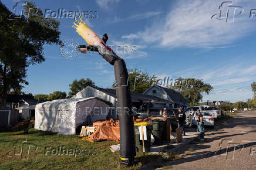
<instances>
[{"instance_id":1,"label":"green grass lawn in the foreground around the tube man's base","mask_svg":"<svg viewBox=\"0 0 256 170\"><path fill-rule=\"evenodd\" d=\"M109 149L114 144L118 142L93 143L80 140L76 135L57 135L35 129L30 129L29 134L0 132L0 169L126 169L119 164L119 152L112 153ZM140 168L161 159L161 155L137 152L136 159L139 164L127 169Z\"/></svg>"}]
</instances>

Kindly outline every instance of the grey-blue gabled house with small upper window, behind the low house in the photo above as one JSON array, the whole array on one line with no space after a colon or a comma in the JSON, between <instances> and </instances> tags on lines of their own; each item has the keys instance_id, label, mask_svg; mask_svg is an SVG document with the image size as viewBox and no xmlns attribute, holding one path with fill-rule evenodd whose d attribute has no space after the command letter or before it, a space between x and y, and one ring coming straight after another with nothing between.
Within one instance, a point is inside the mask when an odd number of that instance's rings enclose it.
<instances>
[{"instance_id":1,"label":"grey-blue gabled house with small upper window, behind the low house","mask_svg":"<svg viewBox=\"0 0 256 170\"><path fill-rule=\"evenodd\" d=\"M167 100L170 103L172 103L171 107L173 108L189 106L188 101L180 93L173 89L161 87L156 84L154 84L153 86L149 87L149 89L144 91L144 94L163 98L164 100Z\"/></svg>"}]
</instances>

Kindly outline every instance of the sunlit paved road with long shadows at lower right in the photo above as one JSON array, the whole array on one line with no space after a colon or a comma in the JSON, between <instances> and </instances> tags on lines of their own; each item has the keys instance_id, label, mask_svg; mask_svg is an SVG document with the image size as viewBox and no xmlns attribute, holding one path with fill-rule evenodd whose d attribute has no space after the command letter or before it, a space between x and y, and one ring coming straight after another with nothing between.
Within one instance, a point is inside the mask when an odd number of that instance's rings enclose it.
<instances>
[{"instance_id":1,"label":"sunlit paved road with long shadows at lower right","mask_svg":"<svg viewBox=\"0 0 256 170\"><path fill-rule=\"evenodd\" d=\"M228 148L228 149L227 149ZM174 169L256 169L256 113L238 113L194 145L183 159L168 162Z\"/></svg>"}]
</instances>

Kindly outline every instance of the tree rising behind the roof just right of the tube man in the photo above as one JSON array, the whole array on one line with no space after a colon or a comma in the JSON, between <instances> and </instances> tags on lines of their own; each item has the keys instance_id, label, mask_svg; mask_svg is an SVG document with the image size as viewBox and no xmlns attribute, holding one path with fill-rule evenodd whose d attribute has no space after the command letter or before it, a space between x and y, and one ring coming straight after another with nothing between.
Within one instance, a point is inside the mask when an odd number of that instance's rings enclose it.
<instances>
[{"instance_id":1,"label":"tree rising behind the roof just right of the tube man","mask_svg":"<svg viewBox=\"0 0 256 170\"><path fill-rule=\"evenodd\" d=\"M152 84L156 83L156 80L153 77L149 76L147 70L142 71L138 69L133 69L129 73L129 83L130 90L143 93L147 89L149 89ZM113 84L113 89L116 89L116 83Z\"/></svg>"}]
</instances>

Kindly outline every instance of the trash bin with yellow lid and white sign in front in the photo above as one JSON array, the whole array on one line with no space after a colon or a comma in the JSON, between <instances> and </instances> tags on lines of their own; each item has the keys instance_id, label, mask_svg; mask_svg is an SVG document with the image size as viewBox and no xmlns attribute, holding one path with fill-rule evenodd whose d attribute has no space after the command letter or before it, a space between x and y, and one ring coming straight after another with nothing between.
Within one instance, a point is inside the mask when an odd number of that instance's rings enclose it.
<instances>
[{"instance_id":1,"label":"trash bin with yellow lid and white sign in front","mask_svg":"<svg viewBox=\"0 0 256 170\"><path fill-rule=\"evenodd\" d=\"M134 123L134 132L136 134L136 151L138 152L143 152L143 143L142 140L140 140L140 128L146 127L146 137L144 137L144 148L145 152L150 152L150 141L151 141L151 131L152 131L152 123L151 122L139 122L139 123ZM143 129L144 131L144 129ZM145 134L145 132L144 132ZM141 137L142 138L142 137ZM146 140L145 140L146 138Z\"/></svg>"}]
</instances>

